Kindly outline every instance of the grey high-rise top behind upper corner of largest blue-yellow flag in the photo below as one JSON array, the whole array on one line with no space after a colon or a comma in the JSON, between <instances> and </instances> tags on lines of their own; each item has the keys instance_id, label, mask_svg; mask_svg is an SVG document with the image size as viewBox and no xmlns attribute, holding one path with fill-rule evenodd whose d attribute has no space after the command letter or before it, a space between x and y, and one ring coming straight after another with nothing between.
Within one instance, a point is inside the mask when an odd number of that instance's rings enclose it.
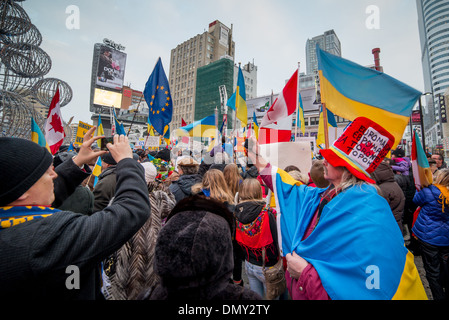
<instances>
[{"instance_id":1,"label":"grey high-rise top behind upper corner of largest blue-yellow flag","mask_svg":"<svg viewBox=\"0 0 449 320\"><path fill-rule=\"evenodd\" d=\"M319 36L307 39L306 42L306 71L308 75L314 75L318 71L318 59L316 56L316 44L321 50L341 57L341 44L334 30L324 32Z\"/></svg>"}]
</instances>

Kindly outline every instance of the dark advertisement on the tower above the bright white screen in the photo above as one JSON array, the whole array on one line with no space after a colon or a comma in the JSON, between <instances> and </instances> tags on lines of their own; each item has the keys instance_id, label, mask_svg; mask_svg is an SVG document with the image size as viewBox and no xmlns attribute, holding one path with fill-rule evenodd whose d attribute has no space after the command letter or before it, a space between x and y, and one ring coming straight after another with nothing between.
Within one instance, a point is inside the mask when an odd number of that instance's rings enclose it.
<instances>
[{"instance_id":1,"label":"dark advertisement on the tower above the bright white screen","mask_svg":"<svg viewBox=\"0 0 449 320\"><path fill-rule=\"evenodd\" d=\"M125 78L126 53L102 45L98 59L96 85L121 90Z\"/></svg>"}]
</instances>

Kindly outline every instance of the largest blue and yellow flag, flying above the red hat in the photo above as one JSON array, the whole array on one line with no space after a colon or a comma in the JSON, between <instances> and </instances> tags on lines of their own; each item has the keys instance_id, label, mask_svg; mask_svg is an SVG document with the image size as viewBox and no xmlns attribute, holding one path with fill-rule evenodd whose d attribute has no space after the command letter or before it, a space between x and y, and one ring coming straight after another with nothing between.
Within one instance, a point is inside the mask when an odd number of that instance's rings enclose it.
<instances>
[{"instance_id":1,"label":"largest blue and yellow flag, flying above the red hat","mask_svg":"<svg viewBox=\"0 0 449 320\"><path fill-rule=\"evenodd\" d=\"M366 117L402 139L421 92L386 75L322 51L317 45L321 102L350 121Z\"/></svg>"}]
</instances>

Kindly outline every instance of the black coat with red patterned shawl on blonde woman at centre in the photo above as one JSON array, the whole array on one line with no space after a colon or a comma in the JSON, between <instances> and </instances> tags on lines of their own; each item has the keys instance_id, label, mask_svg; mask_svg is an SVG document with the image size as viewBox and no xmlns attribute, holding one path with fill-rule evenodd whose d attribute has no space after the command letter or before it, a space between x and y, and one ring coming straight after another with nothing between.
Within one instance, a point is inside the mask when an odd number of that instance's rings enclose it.
<instances>
[{"instance_id":1,"label":"black coat with red patterned shawl on blonde woman at centre","mask_svg":"<svg viewBox=\"0 0 449 320\"><path fill-rule=\"evenodd\" d=\"M265 201L245 201L237 204L234 210L234 216L236 218L236 233L245 233L242 229L245 229L248 233L254 237L257 232L262 232L264 229L261 227L264 223L264 219L268 218L269 228L265 229L270 231L271 235L265 235L270 242L266 246L266 257L265 266L271 267L276 264L279 259L279 249L277 246L277 227L276 227L276 217L274 215L273 209L267 210ZM239 237L236 234L236 239ZM246 239L246 237L242 237ZM262 248L252 247L249 243L244 241L238 241L240 247L243 250L245 259L258 266L263 265L262 260Z\"/></svg>"}]
</instances>

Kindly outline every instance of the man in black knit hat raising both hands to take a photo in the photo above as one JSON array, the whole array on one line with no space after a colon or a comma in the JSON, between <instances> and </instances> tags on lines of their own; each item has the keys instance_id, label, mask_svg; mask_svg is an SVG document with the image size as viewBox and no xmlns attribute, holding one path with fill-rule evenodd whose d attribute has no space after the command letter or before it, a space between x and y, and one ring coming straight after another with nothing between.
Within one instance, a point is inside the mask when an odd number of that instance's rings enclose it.
<instances>
[{"instance_id":1,"label":"man in black knit hat raising both hands to take a photo","mask_svg":"<svg viewBox=\"0 0 449 320\"><path fill-rule=\"evenodd\" d=\"M108 143L117 162L114 203L91 216L50 207L62 203L90 174L86 163L105 153L91 149L100 138L92 137L95 129L87 131L78 155L56 172L46 148L0 138L2 301L101 298L97 266L148 219L144 170L132 159L128 138L118 135Z\"/></svg>"}]
</instances>

